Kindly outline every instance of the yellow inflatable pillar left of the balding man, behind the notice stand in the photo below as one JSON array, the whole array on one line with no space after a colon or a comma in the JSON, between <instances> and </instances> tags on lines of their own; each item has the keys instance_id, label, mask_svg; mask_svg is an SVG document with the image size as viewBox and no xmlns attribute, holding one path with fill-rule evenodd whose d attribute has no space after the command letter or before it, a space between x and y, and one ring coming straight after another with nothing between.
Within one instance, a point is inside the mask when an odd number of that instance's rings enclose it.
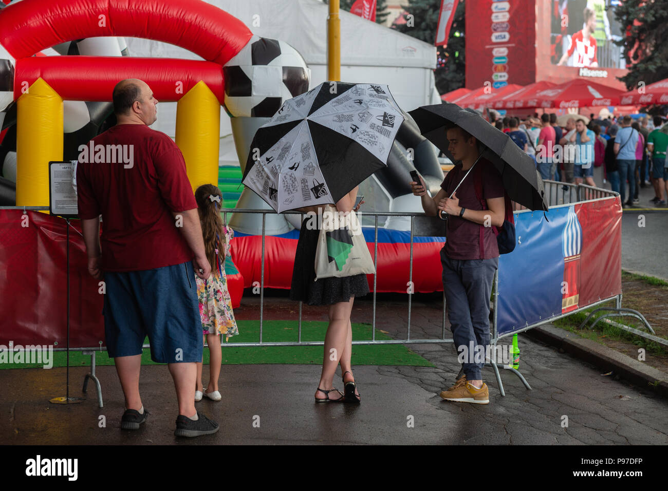
<instances>
[{"instance_id":1,"label":"yellow inflatable pillar left of the balding man, behind the notice stand","mask_svg":"<svg viewBox=\"0 0 668 491\"><path fill-rule=\"evenodd\" d=\"M17 100L17 206L49 206L49 160L63 160L63 98L38 78Z\"/></svg>"}]
</instances>

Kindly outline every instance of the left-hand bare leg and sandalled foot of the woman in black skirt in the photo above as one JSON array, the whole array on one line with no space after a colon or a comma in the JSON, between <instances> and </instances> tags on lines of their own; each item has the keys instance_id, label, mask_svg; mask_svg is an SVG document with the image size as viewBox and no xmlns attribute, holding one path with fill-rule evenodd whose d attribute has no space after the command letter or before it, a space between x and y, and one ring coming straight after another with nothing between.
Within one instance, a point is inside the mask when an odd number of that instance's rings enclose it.
<instances>
[{"instance_id":1,"label":"left-hand bare leg and sandalled foot of the woman in black skirt","mask_svg":"<svg viewBox=\"0 0 668 491\"><path fill-rule=\"evenodd\" d=\"M329 306L329 326L325 335L325 352L323 353L323 371L320 376L318 387L324 390L333 388L336 367L341 361L345 351L350 322L350 312L353 309L353 299L347 302L339 302ZM329 393L330 399L341 397L338 393ZM320 391L315 393L316 399L326 399L327 396Z\"/></svg>"}]
</instances>

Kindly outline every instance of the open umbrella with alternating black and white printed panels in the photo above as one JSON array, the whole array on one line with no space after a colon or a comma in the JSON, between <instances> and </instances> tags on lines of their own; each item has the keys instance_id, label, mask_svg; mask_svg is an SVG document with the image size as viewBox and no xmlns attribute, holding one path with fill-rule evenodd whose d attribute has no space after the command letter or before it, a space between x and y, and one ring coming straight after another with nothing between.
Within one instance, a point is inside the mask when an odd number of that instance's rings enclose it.
<instances>
[{"instance_id":1,"label":"open umbrella with alternating black and white printed panels","mask_svg":"<svg viewBox=\"0 0 668 491\"><path fill-rule=\"evenodd\" d=\"M257 130L242 182L278 213L334 204L387 165L402 122L387 86L325 82Z\"/></svg>"}]
</instances>

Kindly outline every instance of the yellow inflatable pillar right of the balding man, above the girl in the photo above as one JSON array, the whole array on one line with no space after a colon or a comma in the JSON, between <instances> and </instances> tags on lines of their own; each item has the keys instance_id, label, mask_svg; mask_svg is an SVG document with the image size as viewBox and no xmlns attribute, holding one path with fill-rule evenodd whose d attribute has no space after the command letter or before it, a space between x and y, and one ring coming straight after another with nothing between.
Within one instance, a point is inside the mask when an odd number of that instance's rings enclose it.
<instances>
[{"instance_id":1,"label":"yellow inflatable pillar right of the balding man, above the girl","mask_svg":"<svg viewBox=\"0 0 668 491\"><path fill-rule=\"evenodd\" d=\"M201 80L176 104L176 144L193 192L202 184L218 186L220 102Z\"/></svg>"}]
</instances>

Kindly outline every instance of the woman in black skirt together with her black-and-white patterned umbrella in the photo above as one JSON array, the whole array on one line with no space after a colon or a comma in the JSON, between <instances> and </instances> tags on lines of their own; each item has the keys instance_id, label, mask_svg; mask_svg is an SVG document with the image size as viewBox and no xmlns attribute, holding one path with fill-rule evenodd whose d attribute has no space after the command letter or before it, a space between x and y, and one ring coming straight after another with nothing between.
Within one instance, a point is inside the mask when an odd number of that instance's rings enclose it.
<instances>
[{"instance_id":1,"label":"woman in black skirt together with her black-and-white patterned umbrella","mask_svg":"<svg viewBox=\"0 0 668 491\"><path fill-rule=\"evenodd\" d=\"M387 86L325 82L287 100L257 130L242 182L278 213L310 211L321 217L319 210L329 204L335 204L339 213L349 213L359 208L355 206L359 183L387 166L402 122L403 114ZM369 283L365 274L321 275L315 281L321 224L312 226L313 218L301 226L290 296L329 309L315 400L359 403L351 371L350 313L355 297L369 293ZM345 393L333 386L339 364Z\"/></svg>"}]
</instances>

